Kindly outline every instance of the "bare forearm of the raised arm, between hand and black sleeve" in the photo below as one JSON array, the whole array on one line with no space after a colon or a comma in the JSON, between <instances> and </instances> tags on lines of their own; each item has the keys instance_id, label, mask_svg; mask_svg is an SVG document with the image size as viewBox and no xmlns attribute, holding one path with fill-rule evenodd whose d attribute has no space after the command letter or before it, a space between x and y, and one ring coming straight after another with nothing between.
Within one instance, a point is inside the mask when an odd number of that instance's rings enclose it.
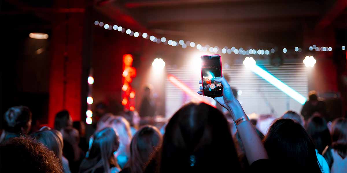
<instances>
[{"instance_id":1,"label":"bare forearm of the raised arm, between hand and black sleeve","mask_svg":"<svg viewBox=\"0 0 347 173\"><path fill-rule=\"evenodd\" d=\"M234 121L242 116L246 116L241 104L236 99L228 104L228 111L232 115ZM249 164L252 164L254 161L259 159L268 158L264 145L256 133L251 121L244 121L237 125L236 128L245 148Z\"/></svg>"}]
</instances>

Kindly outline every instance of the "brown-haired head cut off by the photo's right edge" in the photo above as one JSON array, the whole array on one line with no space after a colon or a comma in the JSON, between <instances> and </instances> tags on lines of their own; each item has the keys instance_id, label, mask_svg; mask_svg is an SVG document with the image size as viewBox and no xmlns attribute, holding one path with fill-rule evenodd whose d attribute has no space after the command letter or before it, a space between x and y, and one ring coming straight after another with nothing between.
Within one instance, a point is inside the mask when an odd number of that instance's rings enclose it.
<instances>
[{"instance_id":1,"label":"brown-haired head cut off by the photo's right edge","mask_svg":"<svg viewBox=\"0 0 347 173\"><path fill-rule=\"evenodd\" d=\"M332 122L331 129L331 146L342 158L345 158L347 156L347 119L335 119Z\"/></svg>"}]
</instances>

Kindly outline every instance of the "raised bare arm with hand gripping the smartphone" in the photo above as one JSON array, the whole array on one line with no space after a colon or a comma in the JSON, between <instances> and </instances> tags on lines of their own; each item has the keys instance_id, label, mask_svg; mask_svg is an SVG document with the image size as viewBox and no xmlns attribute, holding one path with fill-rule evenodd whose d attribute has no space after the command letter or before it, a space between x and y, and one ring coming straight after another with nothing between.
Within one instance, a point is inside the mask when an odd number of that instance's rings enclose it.
<instances>
[{"instance_id":1,"label":"raised bare arm with hand gripping the smartphone","mask_svg":"<svg viewBox=\"0 0 347 173\"><path fill-rule=\"evenodd\" d=\"M241 104L234 97L234 94L232 94L228 82L224 78L215 79L215 81L222 83L223 96L215 97L214 99L230 112L234 121L240 117L246 116ZM201 81L199 81L199 83L201 84ZM202 86L200 86L200 90L202 89ZM198 94L202 95L202 92L199 91ZM261 142L260 137L257 135L251 121L244 121L237 125L236 128L242 140L247 160L250 165L256 160L268 158L264 145Z\"/></svg>"}]
</instances>

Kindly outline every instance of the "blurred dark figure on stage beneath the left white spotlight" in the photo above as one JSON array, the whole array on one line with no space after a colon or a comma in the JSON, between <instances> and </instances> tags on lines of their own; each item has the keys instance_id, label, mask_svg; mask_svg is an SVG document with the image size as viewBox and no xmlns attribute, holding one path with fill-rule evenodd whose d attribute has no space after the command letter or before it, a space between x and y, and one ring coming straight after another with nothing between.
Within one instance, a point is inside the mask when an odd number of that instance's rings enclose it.
<instances>
[{"instance_id":1,"label":"blurred dark figure on stage beneath the left white spotlight","mask_svg":"<svg viewBox=\"0 0 347 173\"><path fill-rule=\"evenodd\" d=\"M151 88L151 86L146 86L143 91L143 98L139 110L140 117L155 116L155 102L152 98Z\"/></svg>"}]
</instances>

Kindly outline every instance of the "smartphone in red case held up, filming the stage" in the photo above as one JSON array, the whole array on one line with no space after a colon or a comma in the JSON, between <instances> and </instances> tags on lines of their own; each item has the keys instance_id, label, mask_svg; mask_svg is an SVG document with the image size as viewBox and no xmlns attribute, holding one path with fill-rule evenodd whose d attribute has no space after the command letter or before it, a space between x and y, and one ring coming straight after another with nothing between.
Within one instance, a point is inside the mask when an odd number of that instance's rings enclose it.
<instances>
[{"instance_id":1,"label":"smartphone in red case held up, filming the stage","mask_svg":"<svg viewBox=\"0 0 347 173\"><path fill-rule=\"evenodd\" d=\"M201 56L202 93L205 96L215 97L223 94L223 86L214 79L221 78L222 60L220 55Z\"/></svg>"}]
</instances>

